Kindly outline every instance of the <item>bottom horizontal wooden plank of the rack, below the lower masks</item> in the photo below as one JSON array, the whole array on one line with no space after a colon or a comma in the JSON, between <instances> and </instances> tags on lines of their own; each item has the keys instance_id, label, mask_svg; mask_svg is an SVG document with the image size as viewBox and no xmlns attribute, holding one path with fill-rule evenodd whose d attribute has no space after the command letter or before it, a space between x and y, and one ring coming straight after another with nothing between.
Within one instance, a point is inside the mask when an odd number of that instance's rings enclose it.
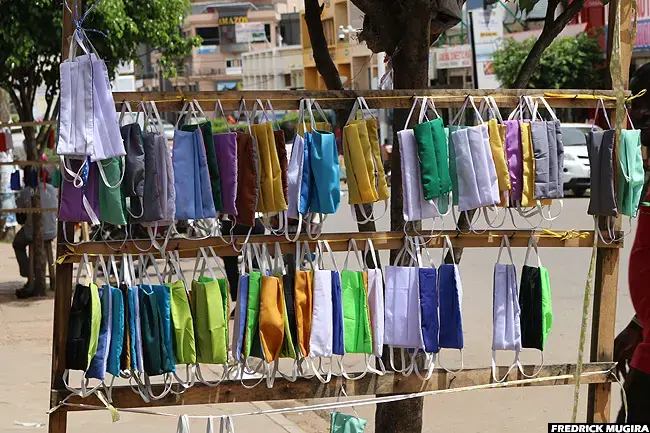
<instances>
[{"instance_id":1,"label":"bottom horizontal wooden plank of the rack, below the lower masks","mask_svg":"<svg viewBox=\"0 0 650 433\"><path fill-rule=\"evenodd\" d=\"M609 371L614 364L605 363L586 363L584 372ZM536 366L525 366L525 371L531 374ZM508 367L499 367L499 374L505 375ZM545 365L542 367L537 377L553 377L566 374L575 374L575 364L557 364ZM452 380L453 379L453 380ZM524 376L514 370L508 375L508 380L524 379ZM610 380L609 374L594 374L582 378L583 383L603 383ZM295 382L289 382L282 378L277 378L273 388L267 388L260 384L254 389L244 388L239 381L224 381L219 386L209 387L201 383L195 383L190 389L182 394L175 395L169 393L161 400L151 403L145 403L144 400L133 392L127 386L113 387L113 405L116 408L137 408L137 407L156 407L156 406L177 406L177 405L196 405L196 404L215 404L215 403L235 403L235 402L252 402L252 401L270 401L270 400L296 400L296 399L318 399L332 398L339 393L341 384L345 384L345 390L350 396L369 396L369 395L390 395L390 394L408 394L413 392L434 391L449 388L462 388L468 386L482 385L493 383L492 370L490 367L463 370L457 374L447 373L445 370L437 369L431 379L428 381L420 380L416 375L402 376L401 374L386 373L384 376L369 374L363 379L357 381L345 380L342 377L333 377L332 381L322 384L318 379L298 379ZM536 384L527 384L524 386L553 386L567 385L573 383L571 379L559 379L548 382L539 382ZM160 394L162 384L152 385L153 392ZM177 389L175 389L176 391ZM66 389L52 390L52 401L62 401L70 392ZM103 406L99 400L92 396L82 399L78 396L70 397L69 403L88 404ZM62 411L79 411L83 408L63 406Z\"/></svg>"}]
</instances>

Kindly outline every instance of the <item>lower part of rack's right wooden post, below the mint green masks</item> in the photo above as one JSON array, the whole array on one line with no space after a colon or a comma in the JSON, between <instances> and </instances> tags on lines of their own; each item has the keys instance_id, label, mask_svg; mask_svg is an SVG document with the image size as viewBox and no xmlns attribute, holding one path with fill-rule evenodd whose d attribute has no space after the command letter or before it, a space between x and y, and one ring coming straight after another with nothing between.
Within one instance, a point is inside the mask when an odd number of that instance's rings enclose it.
<instances>
[{"instance_id":1,"label":"lower part of rack's right wooden post, below the mint green masks","mask_svg":"<svg viewBox=\"0 0 650 433\"><path fill-rule=\"evenodd\" d=\"M604 219L601 228L606 227ZM617 222L620 228L620 218ZM596 255L594 301L591 322L591 352L589 359L614 359L614 331L616 325L616 296L618 292L618 249L599 248ZM590 385L587 402L587 422L609 422L611 384Z\"/></svg>"}]
</instances>

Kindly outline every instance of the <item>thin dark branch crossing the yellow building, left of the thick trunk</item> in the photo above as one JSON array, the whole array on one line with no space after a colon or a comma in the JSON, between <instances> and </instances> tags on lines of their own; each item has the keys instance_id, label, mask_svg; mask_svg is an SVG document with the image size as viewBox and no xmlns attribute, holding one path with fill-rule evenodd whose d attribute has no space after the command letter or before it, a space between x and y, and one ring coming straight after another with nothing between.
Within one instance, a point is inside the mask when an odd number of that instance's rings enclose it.
<instances>
[{"instance_id":1,"label":"thin dark branch crossing the yellow building, left of the thick trunk","mask_svg":"<svg viewBox=\"0 0 650 433\"><path fill-rule=\"evenodd\" d=\"M343 83L338 69L330 56L330 50L320 20L323 7L318 0L305 0L305 23L311 40L311 49L318 73L323 77L328 90L342 90Z\"/></svg>"}]
</instances>

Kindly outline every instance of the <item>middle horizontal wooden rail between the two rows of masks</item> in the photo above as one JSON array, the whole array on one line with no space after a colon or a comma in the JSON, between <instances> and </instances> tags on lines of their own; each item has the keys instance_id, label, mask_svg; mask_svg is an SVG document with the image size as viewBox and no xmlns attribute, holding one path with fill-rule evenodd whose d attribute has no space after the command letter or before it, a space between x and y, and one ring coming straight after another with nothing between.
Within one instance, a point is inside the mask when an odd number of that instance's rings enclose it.
<instances>
[{"instance_id":1,"label":"middle horizontal wooden rail between the two rows of masks","mask_svg":"<svg viewBox=\"0 0 650 433\"><path fill-rule=\"evenodd\" d=\"M501 237L508 236L510 245L512 247L527 247L528 240L531 235L530 230L491 230L485 233L460 233L457 231L447 230L443 231L440 236L434 236L428 239L427 247L429 248L442 248L444 246L443 237L447 235L450 237L452 245L458 248L498 248L501 244ZM584 231L584 237L574 237L570 239L563 239L561 237L545 234L542 232L534 232L537 237L537 244L540 248L591 248L594 242L594 232ZM416 233L410 232L411 236L417 236ZM558 235L562 235L559 232ZM246 236L234 236L235 244L241 247L242 242ZM372 239L372 242L378 250L399 249L404 242L403 232L373 232L373 233L324 233L320 236L319 240L329 241L333 251L347 251L348 241L355 239L361 251L365 248L366 240ZM425 240L427 238L425 237ZM308 241L311 250L316 248L316 241L311 241L307 235L301 235L300 241ZM159 240L161 243L162 240ZM295 252L296 244L287 241L282 236L274 235L255 235L250 236L249 243L267 243L271 246L275 242L280 244L280 248L284 254ZM196 252L201 247L212 246L218 256L236 256L239 255L231 244L224 242L218 237L212 237L201 240L189 240L183 238L174 238L167 244L167 251L179 251L181 257L196 257ZM599 241L600 248L622 248L623 242L612 242L611 244L604 244ZM142 241L128 241L122 243L117 242L87 242L76 247L68 246L67 244L59 244L59 256L66 255L64 263L77 263L80 261L82 255L108 255L108 254L138 254L142 250L148 249L149 252L155 256L159 256L158 250L151 246L150 240Z\"/></svg>"}]
</instances>

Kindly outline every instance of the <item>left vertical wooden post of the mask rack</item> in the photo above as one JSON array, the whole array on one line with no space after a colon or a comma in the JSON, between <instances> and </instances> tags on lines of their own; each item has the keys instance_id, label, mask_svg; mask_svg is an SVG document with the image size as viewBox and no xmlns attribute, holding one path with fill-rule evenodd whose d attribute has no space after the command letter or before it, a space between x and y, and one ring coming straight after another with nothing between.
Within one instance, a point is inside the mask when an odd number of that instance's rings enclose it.
<instances>
[{"instance_id":1,"label":"left vertical wooden post of the mask rack","mask_svg":"<svg viewBox=\"0 0 650 433\"><path fill-rule=\"evenodd\" d=\"M80 10L83 10L83 0L77 2ZM64 0L68 2L68 0ZM74 33L73 17L63 5L63 29L61 34L61 61L63 62L70 49L71 36ZM59 222L58 233L63 233L63 225ZM57 257L64 251L57 246ZM70 302L72 299L72 270L73 265L66 263L56 265L56 291L54 295L54 324L52 329L52 376L50 389L62 389L63 372L65 370L65 342L68 333L68 316L70 315ZM50 407L58 404L50 398ZM68 413L66 411L55 411L48 419L49 433L65 433L68 425Z\"/></svg>"}]
</instances>

